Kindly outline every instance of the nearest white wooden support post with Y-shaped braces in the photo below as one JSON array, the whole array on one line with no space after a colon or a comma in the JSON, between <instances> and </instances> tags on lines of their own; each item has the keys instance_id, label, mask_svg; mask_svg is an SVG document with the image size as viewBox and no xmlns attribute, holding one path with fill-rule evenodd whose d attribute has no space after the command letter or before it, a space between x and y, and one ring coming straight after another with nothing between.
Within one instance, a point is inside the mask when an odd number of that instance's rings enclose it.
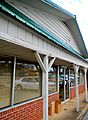
<instances>
[{"instance_id":1,"label":"nearest white wooden support post with Y-shaped braces","mask_svg":"<svg viewBox=\"0 0 88 120\"><path fill-rule=\"evenodd\" d=\"M48 120L48 71L54 63L55 58L49 63L47 55L45 55L44 61L42 61L37 52L35 52L35 57L42 69L43 120Z\"/></svg>"}]
</instances>

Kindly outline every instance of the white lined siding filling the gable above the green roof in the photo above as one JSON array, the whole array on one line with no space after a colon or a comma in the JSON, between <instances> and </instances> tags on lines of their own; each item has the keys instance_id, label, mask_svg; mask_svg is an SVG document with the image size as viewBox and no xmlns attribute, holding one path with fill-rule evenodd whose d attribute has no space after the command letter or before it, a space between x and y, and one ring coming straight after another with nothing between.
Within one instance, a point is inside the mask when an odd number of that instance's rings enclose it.
<instances>
[{"instance_id":1,"label":"white lined siding filling the gable above the green roof","mask_svg":"<svg viewBox=\"0 0 88 120\"><path fill-rule=\"evenodd\" d=\"M80 50L69 29L59 20L58 17L33 9L29 6L25 6L22 4L19 5L19 3L16 2L13 6L22 11L29 18L40 24L42 27L46 28L49 32L53 33L56 37L63 40L65 43L68 43L78 53L80 53Z\"/></svg>"}]
</instances>

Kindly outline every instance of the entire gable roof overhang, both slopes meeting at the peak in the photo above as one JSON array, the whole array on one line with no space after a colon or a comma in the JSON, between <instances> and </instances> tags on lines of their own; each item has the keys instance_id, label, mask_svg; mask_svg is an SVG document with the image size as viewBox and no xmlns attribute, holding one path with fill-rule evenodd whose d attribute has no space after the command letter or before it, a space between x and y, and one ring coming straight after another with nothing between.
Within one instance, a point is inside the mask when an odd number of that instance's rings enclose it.
<instances>
[{"instance_id":1,"label":"entire gable roof overhang, both slopes meeting at the peak","mask_svg":"<svg viewBox=\"0 0 88 120\"><path fill-rule=\"evenodd\" d=\"M5 0L5 1L11 2L11 0ZM14 2L18 1L18 2L23 3L25 5L29 5L33 8L40 9L42 11L49 13L49 14L52 14L54 16L59 17L59 19L61 19L61 20L64 20L68 24L68 26L71 30L71 33L72 33L72 35L73 35L73 37L78 45L78 48L79 48L82 56L84 58L88 58L88 52L87 52L85 43L83 41L79 26L77 24L75 15L66 11L65 9L63 9L59 5L55 4L51 0L36 0L35 4L34 4L33 0L30 0L30 1L28 1L28 0L24 0L24 1L13 0L13 1Z\"/></svg>"}]
</instances>

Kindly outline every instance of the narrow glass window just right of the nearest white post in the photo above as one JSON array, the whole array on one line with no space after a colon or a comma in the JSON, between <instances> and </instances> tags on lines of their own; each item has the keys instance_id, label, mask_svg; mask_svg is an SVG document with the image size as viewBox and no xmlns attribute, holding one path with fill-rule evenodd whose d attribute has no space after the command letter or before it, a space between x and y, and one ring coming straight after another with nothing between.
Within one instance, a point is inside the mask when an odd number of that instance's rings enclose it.
<instances>
[{"instance_id":1,"label":"narrow glass window just right of the nearest white post","mask_svg":"<svg viewBox=\"0 0 88 120\"><path fill-rule=\"evenodd\" d=\"M49 75L48 91L49 91L49 93L56 92L56 79L57 79L57 69L56 69L56 67L51 67L48 75Z\"/></svg>"}]
</instances>

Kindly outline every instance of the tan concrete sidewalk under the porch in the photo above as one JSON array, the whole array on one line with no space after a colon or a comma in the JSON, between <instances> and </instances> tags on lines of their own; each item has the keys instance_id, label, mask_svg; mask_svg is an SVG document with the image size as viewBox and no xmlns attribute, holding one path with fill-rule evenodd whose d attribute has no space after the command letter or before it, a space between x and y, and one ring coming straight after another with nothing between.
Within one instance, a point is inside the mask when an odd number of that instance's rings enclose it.
<instances>
[{"instance_id":1,"label":"tan concrete sidewalk under the porch","mask_svg":"<svg viewBox=\"0 0 88 120\"><path fill-rule=\"evenodd\" d=\"M59 114L54 114L49 116L49 120L81 120L83 109L87 106L88 103L85 102L85 92L80 94L80 109L79 112L76 112L76 98L69 100L62 104L61 112Z\"/></svg>"}]
</instances>

